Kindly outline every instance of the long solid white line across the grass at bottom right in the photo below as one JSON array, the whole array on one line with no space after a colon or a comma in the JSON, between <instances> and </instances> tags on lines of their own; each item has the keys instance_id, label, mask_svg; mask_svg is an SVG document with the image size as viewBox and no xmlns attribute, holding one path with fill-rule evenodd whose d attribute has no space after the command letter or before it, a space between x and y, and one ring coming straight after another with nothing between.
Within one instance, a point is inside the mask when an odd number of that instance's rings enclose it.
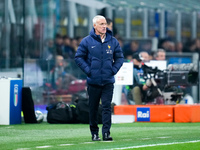
<instances>
[{"instance_id":1,"label":"long solid white line across the grass at bottom right","mask_svg":"<svg viewBox=\"0 0 200 150\"><path fill-rule=\"evenodd\" d=\"M186 141L186 142L172 142L172 143L139 145L139 146L131 146L131 147L112 148L112 149L107 149L107 150L115 150L115 149L133 149L133 148L141 148L141 147L154 147L154 146L162 146L162 145L174 145L174 144L185 144L185 143L198 143L198 142L200 142L200 140L196 140L196 141Z\"/></svg>"}]
</instances>

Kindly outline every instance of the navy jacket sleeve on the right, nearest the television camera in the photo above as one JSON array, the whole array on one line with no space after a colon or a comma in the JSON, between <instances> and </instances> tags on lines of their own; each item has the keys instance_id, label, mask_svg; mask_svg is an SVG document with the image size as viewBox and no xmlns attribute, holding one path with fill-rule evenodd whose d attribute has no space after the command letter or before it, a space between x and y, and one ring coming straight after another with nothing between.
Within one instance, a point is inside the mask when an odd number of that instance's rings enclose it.
<instances>
[{"instance_id":1,"label":"navy jacket sleeve on the right, nearest the television camera","mask_svg":"<svg viewBox=\"0 0 200 150\"><path fill-rule=\"evenodd\" d=\"M117 40L116 40L116 47L113 54L113 59L114 59L114 62L113 62L112 70L115 75L121 68L124 61L124 55L119 45L119 42Z\"/></svg>"}]
</instances>

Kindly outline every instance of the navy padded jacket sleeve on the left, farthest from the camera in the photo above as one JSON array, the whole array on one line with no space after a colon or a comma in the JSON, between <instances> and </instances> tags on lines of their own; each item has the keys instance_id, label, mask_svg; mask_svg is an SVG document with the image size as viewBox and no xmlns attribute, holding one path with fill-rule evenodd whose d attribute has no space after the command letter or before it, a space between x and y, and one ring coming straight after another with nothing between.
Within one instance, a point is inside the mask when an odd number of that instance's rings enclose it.
<instances>
[{"instance_id":1,"label":"navy padded jacket sleeve on the left, farthest from the camera","mask_svg":"<svg viewBox=\"0 0 200 150\"><path fill-rule=\"evenodd\" d=\"M88 64L88 49L84 45L85 42L82 40L77 52L75 54L75 62L77 66L87 75L90 74L90 65Z\"/></svg>"}]
</instances>

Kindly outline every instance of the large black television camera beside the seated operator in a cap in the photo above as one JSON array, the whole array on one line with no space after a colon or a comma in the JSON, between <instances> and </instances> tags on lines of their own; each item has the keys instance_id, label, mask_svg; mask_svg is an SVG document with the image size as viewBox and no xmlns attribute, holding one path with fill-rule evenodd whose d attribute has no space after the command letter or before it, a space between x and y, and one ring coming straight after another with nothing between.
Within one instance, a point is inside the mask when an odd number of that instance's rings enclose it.
<instances>
[{"instance_id":1,"label":"large black television camera beside the seated operator in a cap","mask_svg":"<svg viewBox=\"0 0 200 150\"><path fill-rule=\"evenodd\" d=\"M178 86L198 84L198 71L194 64L169 65L168 69L163 71L144 64L142 69L144 79L152 81L152 86L147 91L146 101L153 101L162 96L165 101L179 103L183 92Z\"/></svg>"}]
</instances>

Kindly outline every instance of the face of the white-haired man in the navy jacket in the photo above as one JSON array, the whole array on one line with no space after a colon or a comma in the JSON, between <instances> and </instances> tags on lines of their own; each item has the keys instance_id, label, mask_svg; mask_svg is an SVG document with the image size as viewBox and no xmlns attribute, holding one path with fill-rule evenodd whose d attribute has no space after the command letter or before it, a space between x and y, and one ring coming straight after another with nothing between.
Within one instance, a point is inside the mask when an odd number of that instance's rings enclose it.
<instances>
[{"instance_id":1,"label":"face of the white-haired man in the navy jacket","mask_svg":"<svg viewBox=\"0 0 200 150\"><path fill-rule=\"evenodd\" d=\"M105 34L106 27L107 27L107 23L106 23L106 19L104 18L98 19L96 24L94 24L94 29L97 35Z\"/></svg>"}]
</instances>

